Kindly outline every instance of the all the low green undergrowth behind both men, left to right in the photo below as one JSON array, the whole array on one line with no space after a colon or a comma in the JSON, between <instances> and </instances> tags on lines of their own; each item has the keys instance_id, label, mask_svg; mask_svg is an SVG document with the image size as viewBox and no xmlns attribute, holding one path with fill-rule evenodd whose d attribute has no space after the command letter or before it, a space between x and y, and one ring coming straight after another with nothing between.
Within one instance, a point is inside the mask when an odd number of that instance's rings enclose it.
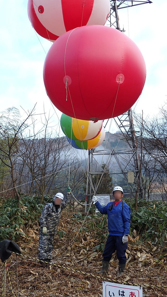
<instances>
[{"instance_id":1,"label":"all the low green undergrowth behind both men, left to right","mask_svg":"<svg viewBox=\"0 0 167 297\"><path fill-rule=\"evenodd\" d=\"M21 209L17 207L17 200L1 198L0 202L0 241L11 239L13 241L26 237L26 228L39 227L43 205L39 204L39 197L21 197ZM50 197L44 197L44 203ZM166 247L167 245L167 203L162 201L138 201L138 211L134 210L134 199L124 198L131 208L131 232L136 230L141 242L148 241L152 245ZM95 206L92 206L92 210ZM84 221L85 220L85 221ZM71 223L77 224L79 233L93 235L95 238L95 251L104 249L108 237L107 216L100 213L83 216L80 212L73 214ZM24 233L25 232L25 233ZM59 237L66 236L64 230L58 231Z\"/></svg>"}]
</instances>

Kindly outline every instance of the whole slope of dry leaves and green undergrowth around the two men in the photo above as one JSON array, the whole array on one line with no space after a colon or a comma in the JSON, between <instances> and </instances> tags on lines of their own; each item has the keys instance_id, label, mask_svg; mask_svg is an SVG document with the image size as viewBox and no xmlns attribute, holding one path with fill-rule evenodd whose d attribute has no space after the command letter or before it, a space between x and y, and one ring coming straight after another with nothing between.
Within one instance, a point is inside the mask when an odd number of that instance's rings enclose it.
<instances>
[{"instance_id":1,"label":"whole slope of dry leaves and green undergrowth around the two men","mask_svg":"<svg viewBox=\"0 0 167 297\"><path fill-rule=\"evenodd\" d=\"M37 260L39 217L43 206L37 199L22 197L21 210L14 200L3 200L0 205L0 240L9 238L17 242L24 256L18 257L19 296L102 296L102 279L96 277L96 271L101 266L108 236L107 217L95 214L94 205L87 216L82 206L76 206L75 213L70 206L66 208L55 237L55 266L44 267ZM143 296L167 296L167 288L162 287L167 284L167 204L142 200L138 211L133 210L133 200L128 204L132 212L131 233L126 273L120 278L121 282L141 284ZM15 255L12 254L8 263L16 292ZM114 254L109 274L104 277L118 282L117 267ZM7 296L12 294L8 291Z\"/></svg>"}]
</instances>

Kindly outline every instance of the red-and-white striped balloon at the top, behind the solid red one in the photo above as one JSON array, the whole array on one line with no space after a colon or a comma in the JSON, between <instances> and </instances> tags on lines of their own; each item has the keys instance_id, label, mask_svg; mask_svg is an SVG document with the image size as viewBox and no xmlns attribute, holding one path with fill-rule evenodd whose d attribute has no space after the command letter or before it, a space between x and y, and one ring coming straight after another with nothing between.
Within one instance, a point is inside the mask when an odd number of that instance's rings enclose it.
<instances>
[{"instance_id":1,"label":"red-and-white striped balloon at the top, behind the solid red one","mask_svg":"<svg viewBox=\"0 0 167 297\"><path fill-rule=\"evenodd\" d=\"M53 42L71 29L104 25L109 13L109 0L28 0L28 18L33 28Z\"/></svg>"}]
</instances>

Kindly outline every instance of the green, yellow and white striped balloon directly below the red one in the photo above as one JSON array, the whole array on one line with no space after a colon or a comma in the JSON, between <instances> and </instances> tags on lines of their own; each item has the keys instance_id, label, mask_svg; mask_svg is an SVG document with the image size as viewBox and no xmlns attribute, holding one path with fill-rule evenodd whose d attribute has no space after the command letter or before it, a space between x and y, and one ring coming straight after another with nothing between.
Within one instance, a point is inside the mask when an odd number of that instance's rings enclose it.
<instances>
[{"instance_id":1,"label":"green, yellow and white striped balloon directly below the red one","mask_svg":"<svg viewBox=\"0 0 167 297\"><path fill-rule=\"evenodd\" d=\"M84 121L62 114L60 119L63 133L73 140L90 140L97 137L103 127L103 121Z\"/></svg>"}]
</instances>

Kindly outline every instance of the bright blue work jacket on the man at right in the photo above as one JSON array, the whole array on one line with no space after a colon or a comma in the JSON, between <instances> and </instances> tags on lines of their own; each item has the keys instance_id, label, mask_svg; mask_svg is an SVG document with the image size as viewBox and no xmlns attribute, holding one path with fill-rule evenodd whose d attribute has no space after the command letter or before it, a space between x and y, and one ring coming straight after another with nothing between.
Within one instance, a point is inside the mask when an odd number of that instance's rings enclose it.
<instances>
[{"instance_id":1,"label":"bright blue work jacket on the man at right","mask_svg":"<svg viewBox=\"0 0 167 297\"><path fill-rule=\"evenodd\" d=\"M109 206L113 203L112 210L109 210ZM114 202L109 202L106 206L102 206L98 201L95 203L97 209L101 214L108 215L108 229L109 235L123 236L129 234L131 224L131 209L123 201L120 201L116 206Z\"/></svg>"}]
</instances>

